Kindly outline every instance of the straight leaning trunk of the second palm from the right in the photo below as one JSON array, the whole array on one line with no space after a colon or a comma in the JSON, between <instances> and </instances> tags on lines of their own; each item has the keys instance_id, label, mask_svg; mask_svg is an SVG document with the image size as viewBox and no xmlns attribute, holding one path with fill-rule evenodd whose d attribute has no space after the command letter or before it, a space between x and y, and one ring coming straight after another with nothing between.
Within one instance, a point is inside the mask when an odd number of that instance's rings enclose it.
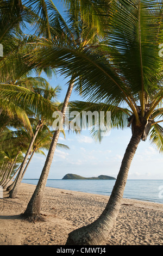
<instances>
[{"instance_id":1,"label":"straight leaning trunk of the second palm from the right","mask_svg":"<svg viewBox=\"0 0 163 256\"><path fill-rule=\"evenodd\" d=\"M72 93L73 84L74 84L74 80L71 79L70 84L67 89L65 100L64 100L64 103L62 106L62 111L61 111L63 120L65 118L66 108L68 106L68 101L70 100L70 96ZM43 221L43 218L41 217L41 214L40 214L42 197L43 197L43 192L45 190L49 170L51 168L55 148L57 147L59 135L60 135L60 130L58 129L54 132L51 146L49 148L48 155L47 155L47 158L45 161L45 165L42 169L42 173L41 173L40 179L37 183L37 186L35 188L35 191L33 193L33 196L27 205L26 211L22 214L22 217L28 219L31 222Z\"/></svg>"}]
</instances>

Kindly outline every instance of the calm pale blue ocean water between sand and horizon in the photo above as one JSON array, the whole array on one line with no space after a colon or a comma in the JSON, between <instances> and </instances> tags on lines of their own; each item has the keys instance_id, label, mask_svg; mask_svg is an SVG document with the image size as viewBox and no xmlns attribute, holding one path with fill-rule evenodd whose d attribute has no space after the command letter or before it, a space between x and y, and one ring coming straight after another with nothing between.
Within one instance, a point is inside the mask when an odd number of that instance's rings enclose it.
<instances>
[{"instance_id":1,"label":"calm pale blue ocean water between sand and horizon","mask_svg":"<svg viewBox=\"0 0 163 256\"><path fill-rule=\"evenodd\" d=\"M37 179L23 179L24 183L36 185ZM102 194L110 196L115 180L47 180L47 187ZM128 180L124 198L163 203L163 180Z\"/></svg>"}]
</instances>

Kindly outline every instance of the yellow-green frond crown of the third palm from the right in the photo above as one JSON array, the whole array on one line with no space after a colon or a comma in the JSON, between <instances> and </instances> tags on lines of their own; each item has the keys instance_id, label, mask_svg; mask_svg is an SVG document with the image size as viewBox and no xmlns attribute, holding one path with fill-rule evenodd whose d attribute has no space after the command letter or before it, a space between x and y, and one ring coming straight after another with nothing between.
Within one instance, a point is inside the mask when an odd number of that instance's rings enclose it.
<instances>
[{"instance_id":1,"label":"yellow-green frond crown of the third palm from the right","mask_svg":"<svg viewBox=\"0 0 163 256\"><path fill-rule=\"evenodd\" d=\"M43 87L45 89L49 83L40 76L30 76L33 68L28 65L26 69L27 65L23 56L23 51L17 54L13 53L13 56L1 62L0 76L2 74L3 80L1 79L0 83L0 115L4 113L12 119L17 117L24 126L32 131L26 109L37 113L44 111L48 114L49 101L43 95L40 96L37 89L43 89ZM7 69L8 63L11 71ZM39 70L34 71L38 72Z\"/></svg>"}]
</instances>

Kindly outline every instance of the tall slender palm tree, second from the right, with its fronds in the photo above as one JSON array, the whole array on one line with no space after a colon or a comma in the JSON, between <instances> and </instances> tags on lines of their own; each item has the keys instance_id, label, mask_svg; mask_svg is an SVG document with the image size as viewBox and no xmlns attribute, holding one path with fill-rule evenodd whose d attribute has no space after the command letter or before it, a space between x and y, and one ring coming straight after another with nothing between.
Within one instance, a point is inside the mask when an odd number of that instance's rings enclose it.
<instances>
[{"instance_id":1,"label":"tall slender palm tree, second from the right, with its fronds","mask_svg":"<svg viewBox=\"0 0 163 256\"><path fill-rule=\"evenodd\" d=\"M44 68L55 68L55 64L52 67L51 63L53 62L53 59L57 58L58 55L55 56L55 53L58 54L58 52L55 52L55 47L60 47L60 44L66 44L68 41L68 44L70 44L74 49L78 49L79 51L82 51L83 47L88 46L94 41L98 39L97 37L97 29L92 29L90 26L87 26L86 23L82 21L78 21L77 17L74 16L72 19L66 23L63 17L59 14L57 8L55 7L54 3L49 0L49 1L34 1L35 3L37 2L38 4L36 5L37 12L41 12L41 15L43 15L43 21L41 21L41 25L43 24L44 26L41 26L41 34L45 36L45 38L41 38L37 41L37 46L34 51L32 51L27 58L29 58L29 63L30 65L37 66L38 68L44 67ZM30 1L30 3L33 3L33 1ZM48 11L50 14L48 15ZM55 46L53 45L55 44ZM51 61L47 65L45 58L47 55L45 55L42 58L42 61L37 62L37 57L39 57L40 51L42 51L42 48L45 48L48 51L51 52ZM46 52L46 54L48 54ZM42 55L42 54L41 54ZM55 56L55 57L54 57ZM61 56L60 56L61 57ZM68 57L68 56L67 56ZM59 60L60 62L60 60ZM57 64L57 63L56 63ZM60 68L60 65L58 65ZM60 72L60 70L59 70ZM66 113L66 108L68 106L68 102L70 100L70 96L73 90L76 74L71 74L70 76L70 81L68 84L68 89L67 93L65 96L65 100L62 104L62 122L64 123L65 120L65 113ZM30 221L39 221L42 220L42 216L40 214L41 210L41 202L42 202L42 196L43 196L43 191L46 186L47 178L48 178L48 173L51 168L51 163L53 160L53 156L55 153L55 148L57 147L57 142L58 138L60 135L60 130L55 130L51 146L48 151L48 155L45 161L45 165L42 169L42 173L39 179L39 182L36 186L36 189L33 193L32 198L30 199L27 209L22 215L23 217L27 218Z\"/></svg>"}]
</instances>

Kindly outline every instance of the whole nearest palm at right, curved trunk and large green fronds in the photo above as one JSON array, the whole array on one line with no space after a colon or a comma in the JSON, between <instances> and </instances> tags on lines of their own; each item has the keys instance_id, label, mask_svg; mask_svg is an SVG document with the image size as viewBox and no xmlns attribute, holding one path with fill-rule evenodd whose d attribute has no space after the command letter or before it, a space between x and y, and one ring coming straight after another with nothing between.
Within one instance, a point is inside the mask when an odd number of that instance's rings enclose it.
<instances>
[{"instance_id":1,"label":"whole nearest palm at right, curved trunk and large green fronds","mask_svg":"<svg viewBox=\"0 0 163 256\"><path fill-rule=\"evenodd\" d=\"M100 40L98 47L81 50L68 38L66 42L58 39L58 44L48 40L41 51L37 49L40 56L36 54L33 58L37 65L58 65L61 74L74 75L78 92L82 90L83 97L92 103L108 105L108 111L117 117L115 120L126 109L130 113L128 125L132 136L109 202L95 222L72 231L66 245L100 245L105 241L118 215L130 164L140 141L151 135L152 143L162 151L162 59L158 54L162 11L159 0L111 1L106 12L105 40ZM120 122L123 118L126 115Z\"/></svg>"}]
</instances>

